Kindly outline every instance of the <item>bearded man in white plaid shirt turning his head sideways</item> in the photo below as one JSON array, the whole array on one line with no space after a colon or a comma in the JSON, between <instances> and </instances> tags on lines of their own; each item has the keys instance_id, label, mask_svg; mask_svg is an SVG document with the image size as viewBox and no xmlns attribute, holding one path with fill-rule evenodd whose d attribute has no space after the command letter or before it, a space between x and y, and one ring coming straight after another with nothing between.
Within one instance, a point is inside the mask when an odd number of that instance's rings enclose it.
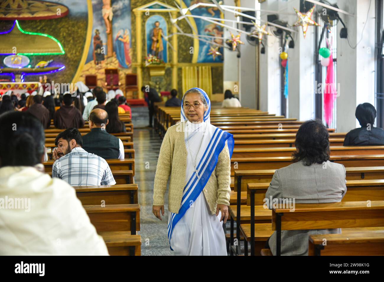
<instances>
[{"instance_id":1,"label":"bearded man in white plaid shirt turning his head sideways","mask_svg":"<svg viewBox=\"0 0 384 282\"><path fill-rule=\"evenodd\" d=\"M55 145L52 177L71 186L116 184L106 160L81 148L83 139L78 129L73 127L60 132Z\"/></svg>"}]
</instances>

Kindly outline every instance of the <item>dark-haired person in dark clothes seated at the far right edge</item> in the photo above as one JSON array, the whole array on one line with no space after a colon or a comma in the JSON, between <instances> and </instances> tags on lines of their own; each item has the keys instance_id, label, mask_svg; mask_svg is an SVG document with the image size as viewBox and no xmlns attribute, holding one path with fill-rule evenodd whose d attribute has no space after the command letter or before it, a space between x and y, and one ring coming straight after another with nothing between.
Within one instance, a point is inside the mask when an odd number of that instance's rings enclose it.
<instances>
[{"instance_id":1,"label":"dark-haired person in dark clothes seated at the far right edge","mask_svg":"<svg viewBox=\"0 0 384 282\"><path fill-rule=\"evenodd\" d=\"M344 146L384 145L384 130L373 127L376 109L369 103L359 104L355 112L360 128L349 131L344 138Z\"/></svg>"}]
</instances>

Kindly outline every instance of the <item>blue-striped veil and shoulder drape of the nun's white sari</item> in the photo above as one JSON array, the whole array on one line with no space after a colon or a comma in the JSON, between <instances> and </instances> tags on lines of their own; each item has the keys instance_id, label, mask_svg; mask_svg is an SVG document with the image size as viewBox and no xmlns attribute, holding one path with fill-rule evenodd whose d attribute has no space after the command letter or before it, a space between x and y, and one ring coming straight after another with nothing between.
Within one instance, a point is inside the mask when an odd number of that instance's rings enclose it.
<instances>
[{"instance_id":1,"label":"blue-striped veil and shoulder drape of the nun's white sari","mask_svg":"<svg viewBox=\"0 0 384 282\"><path fill-rule=\"evenodd\" d=\"M225 132L214 125L210 124L210 100L207 94L204 90L200 88L194 88L197 89L199 92L201 92L205 100L208 103L208 110L204 114L204 122L203 124L197 124L193 126L192 123L187 122L187 118L184 115L184 110L181 106L181 122L184 122L184 125L189 125L189 127L192 127L192 130L190 128L184 127L183 130L188 130L188 134L185 134L185 137L194 140L195 142L189 142L188 146L191 146L192 149L195 149L194 152L199 152L197 154L197 160L196 160L196 170L198 171L198 175L195 172L195 168L193 165L190 164L190 162L187 162L187 169L186 169L186 181L185 186L183 190L183 196L182 201L179 209L179 213L171 213L169 215L169 221L168 221L168 239L170 244L170 249L173 251L171 246L171 237L172 233L175 229L175 226L180 221L180 219L183 218L185 213L188 211L188 209L191 206L191 203L193 204L196 199L199 197L200 193L203 191L205 185L207 184L212 172L214 171L218 155L222 152L223 148L225 147L225 143L227 142L228 149L230 156L232 156L233 152L233 135ZM182 105L183 105L182 101ZM197 137L197 134L202 135L202 132L204 132L204 136ZM197 137L196 140L194 137ZM202 140L202 141L200 141ZM185 139L186 146L188 140ZM201 142L200 150L198 149ZM187 150L189 158L192 158L192 160L195 160L196 155L190 156L190 151ZM199 176L199 177L198 177ZM205 199L204 199L205 200Z\"/></svg>"}]
</instances>

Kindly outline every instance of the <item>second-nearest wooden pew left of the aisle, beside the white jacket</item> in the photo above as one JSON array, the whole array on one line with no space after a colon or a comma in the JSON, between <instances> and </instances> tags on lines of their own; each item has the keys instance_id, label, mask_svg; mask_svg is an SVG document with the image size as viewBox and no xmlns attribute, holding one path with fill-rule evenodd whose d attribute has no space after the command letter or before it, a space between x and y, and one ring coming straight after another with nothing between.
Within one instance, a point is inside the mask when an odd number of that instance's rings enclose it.
<instances>
[{"instance_id":1,"label":"second-nearest wooden pew left of the aisle, beside the white jacket","mask_svg":"<svg viewBox=\"0 0 384 282\"><path fill-rule=\"evenodd\" d=\"M139 204L98 204L83 207L98 233L131 231L131 235L136 235L136 231L140 230Z\"/></svg>"}]
</instances>

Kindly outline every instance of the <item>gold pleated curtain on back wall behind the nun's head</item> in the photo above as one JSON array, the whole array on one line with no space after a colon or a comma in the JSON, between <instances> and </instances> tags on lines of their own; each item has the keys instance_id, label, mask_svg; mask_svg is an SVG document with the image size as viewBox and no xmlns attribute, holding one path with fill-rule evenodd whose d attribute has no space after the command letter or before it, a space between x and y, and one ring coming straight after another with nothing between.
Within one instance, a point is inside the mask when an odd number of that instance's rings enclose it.
<instances>
[{"instance_id":1,"label":"gold pleated curtain on back wall behind the nun's head","mask_svg":"<svg viewBox=\"0 0 384 282\"><path fill-rule=\"evenodd\" d=\"M212 95L212 71L211 66L182 67L183 93L192 87L203 89L208 97Z\"/></svg>"}]
</instances>

